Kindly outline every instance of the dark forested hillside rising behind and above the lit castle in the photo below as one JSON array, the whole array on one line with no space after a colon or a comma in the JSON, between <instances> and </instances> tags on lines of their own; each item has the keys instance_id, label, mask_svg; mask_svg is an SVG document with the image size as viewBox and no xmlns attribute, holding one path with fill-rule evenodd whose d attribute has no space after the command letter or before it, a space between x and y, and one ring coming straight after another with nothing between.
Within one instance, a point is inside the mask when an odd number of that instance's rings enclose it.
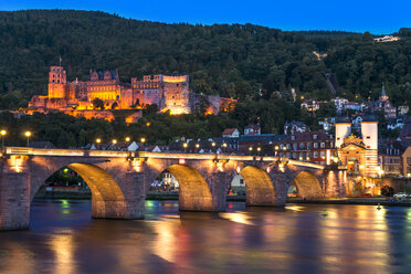
<instances>
[{"instance_id":1,"label":"dark forested hillside rising behind and above the lit castle","mask_svg":"<svg viewBox=\"0 0 411 274\"><path fill-rule=\"evenodd\" d=\"M48 70L62 56L68 80L91 68L118 70L122 81L145 74L189 74L199 93L270 99L296 88L327 99L324 74L339 95L377 98L382 83L394 104L411 98L410 30L398 42L369 33L284 32L252 24L165 24L73 10L0 12L0 108L45 94ZM328 53L318 61L313 51ZM259 95L260 96L260 95ZM410 102L407 102L410 104Z\"/></svg>"}]
</instances>

